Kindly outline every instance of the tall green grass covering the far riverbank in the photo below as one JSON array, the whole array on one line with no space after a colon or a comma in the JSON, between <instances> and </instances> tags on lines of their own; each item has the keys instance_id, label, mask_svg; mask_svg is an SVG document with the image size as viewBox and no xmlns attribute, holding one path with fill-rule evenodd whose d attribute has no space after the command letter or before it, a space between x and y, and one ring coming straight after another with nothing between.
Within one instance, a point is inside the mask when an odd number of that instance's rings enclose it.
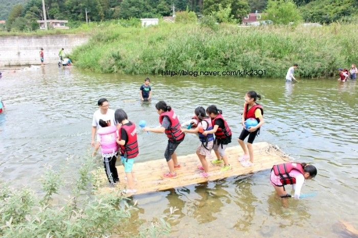
<instances>
[{"instance_id":1,"label":"tall green grass covering the far riverbank","mask_svg":"<svg viewBox=\"0 0 358 238\"><path fill-rule=\"evenodd\" d=\"M354 54L358 40L351 37L356 29L338 23L320 28L220 25L218 31L178 23L149 28L109 25L71 57L77 66L102 73L262 70L261 76L282 78L288 67L298 63L299 77L332 77L338 67L358 62ZM252 75L260 76L255 71Z\"/></svg>"}]
</instances>

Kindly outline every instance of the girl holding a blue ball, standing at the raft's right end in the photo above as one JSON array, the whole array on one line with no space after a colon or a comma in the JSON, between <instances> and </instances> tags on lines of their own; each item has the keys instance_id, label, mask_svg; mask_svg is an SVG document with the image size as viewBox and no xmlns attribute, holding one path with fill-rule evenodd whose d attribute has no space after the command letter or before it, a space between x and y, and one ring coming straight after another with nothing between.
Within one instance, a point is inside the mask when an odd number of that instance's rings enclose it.
<instances>
[{"instance_id":1,"label":"girl holding a blue ball, standing at the raft's right end","mask_svg":"<svg viewBox=\"0 0 358 238\"><path fill-rule=\"evenodd\" d=\"M245 103L243 104L243 112L241 116L243 129L237 140L243 150L243 155L239 157L239 161L244 167L254 165L254 149L252 147L252 144L256 135L259 133L260 127L264 123L263 110L261 108L261 105L256 103L257 98L260 100L261 96L255 91L249 91L245 94ZM248 118L255 118L258 122L258 125L251 128L245 128L245 121ZM249 139L247 145L245 145L243 140L247 136L249 136Z\"/></svg>"}]
</instances>

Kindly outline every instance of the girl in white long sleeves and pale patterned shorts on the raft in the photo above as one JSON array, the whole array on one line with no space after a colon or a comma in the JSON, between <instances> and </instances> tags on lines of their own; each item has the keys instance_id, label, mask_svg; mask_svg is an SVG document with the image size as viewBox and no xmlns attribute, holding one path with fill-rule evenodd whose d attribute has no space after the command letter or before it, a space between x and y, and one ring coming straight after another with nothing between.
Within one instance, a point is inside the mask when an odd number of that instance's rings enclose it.
<instances>
[{"instance_id":1,"label":"girl in white long sleeves and pale patterned shorts on the raft","mask_svg":"<svg viewBox=\"0 0 358 238\"><path fill-rule=\"evenodd\" d=\"M186 129L181 128L181 131L188 132L188 133L197 133L199 135L200 145L196 149L196 154L199 157L200 162L202 162L202 166L199 166L199 170L204 170L202 175L204 178L209 176L209 166L208 162L206 161L206 156L210 156L211 150L214 146L214 135L208 134L203 135L204 131L210 131L213 129L211 124L211 118L208 117L205 113L204 107L197 107L195 108L195 120L197 120L197 126L194 129Z\"/></svg>"}]
</instances>

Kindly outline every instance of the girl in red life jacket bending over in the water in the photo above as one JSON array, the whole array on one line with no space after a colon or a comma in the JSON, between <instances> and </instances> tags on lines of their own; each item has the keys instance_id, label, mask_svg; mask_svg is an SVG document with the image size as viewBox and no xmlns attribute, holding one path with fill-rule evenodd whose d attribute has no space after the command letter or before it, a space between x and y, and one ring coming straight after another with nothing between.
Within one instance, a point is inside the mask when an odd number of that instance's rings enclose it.
<instances>
[{"instance_id":1,"label":"girl in red life jacket bending over in the water","mask_svg":"<svg viewBox=\"0 0 358 238\"><path fill-rule=\"evenodd\" d=\"M282 163L274 165L271 170L270 182L281 198L291 197L285 191L284 185L292 184L295 190L295 199L300 198L301 188L306 179L312 179L317 175L314 165L306 163Z\"/></svg>"}]
</instances>

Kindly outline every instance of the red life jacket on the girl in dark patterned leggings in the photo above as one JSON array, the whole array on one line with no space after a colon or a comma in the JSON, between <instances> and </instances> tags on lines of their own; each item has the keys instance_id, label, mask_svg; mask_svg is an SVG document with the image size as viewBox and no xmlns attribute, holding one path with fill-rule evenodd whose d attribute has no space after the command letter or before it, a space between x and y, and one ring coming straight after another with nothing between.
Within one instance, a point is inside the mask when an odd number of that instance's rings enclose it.
<instances>
[{"instance_id":1,"label":"red life jacket on the girl in dark patterned leggings","mask_svg":"<svg viewBox=\"0 0 358 238\"><path fill-rule=\"evenodd\" d=\"M168 139L173 142L179 142L184 139L185 134L180 130L180 122L173 110L165 111L159 115L159 123L162 124L164 116L168 117L170 127L164 132Z\"/></svg>"}]
</instances>

